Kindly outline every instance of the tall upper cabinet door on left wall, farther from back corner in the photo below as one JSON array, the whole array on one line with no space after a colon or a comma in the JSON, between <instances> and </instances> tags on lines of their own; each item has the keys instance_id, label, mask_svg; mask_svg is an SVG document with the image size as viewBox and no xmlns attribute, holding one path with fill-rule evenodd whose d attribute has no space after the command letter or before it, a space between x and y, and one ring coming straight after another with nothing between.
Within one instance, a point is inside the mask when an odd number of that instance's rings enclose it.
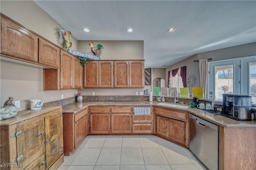
<instances>
[{"instance_id":1,"label":"tall upper cabinet door on left wall, farther from back corner","mask_svg":"<svg viewBox=\"0 0 256 170\"><path fill-rule=\"evenodd\" d=\"M73 56L61 51L60 55L60 89L73 88Z\"/></svg>"}]
</instances>

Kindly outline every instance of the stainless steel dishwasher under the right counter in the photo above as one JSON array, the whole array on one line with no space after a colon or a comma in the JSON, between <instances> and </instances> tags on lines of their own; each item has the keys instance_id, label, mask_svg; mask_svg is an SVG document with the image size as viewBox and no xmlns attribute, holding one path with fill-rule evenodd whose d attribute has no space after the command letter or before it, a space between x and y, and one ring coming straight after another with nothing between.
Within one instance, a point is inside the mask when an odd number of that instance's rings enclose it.
<instances>
[{"instance_id":1,"label":"stainless steel dishwasher under the right counter","mask_svg":"<svg viewBox=\"0 0 256 170\"><path fill-rule=\"evenodd\" d=\"M189 149L210 170L218 169L219 127L189 114Z\"/></svg>"}]
</instances>

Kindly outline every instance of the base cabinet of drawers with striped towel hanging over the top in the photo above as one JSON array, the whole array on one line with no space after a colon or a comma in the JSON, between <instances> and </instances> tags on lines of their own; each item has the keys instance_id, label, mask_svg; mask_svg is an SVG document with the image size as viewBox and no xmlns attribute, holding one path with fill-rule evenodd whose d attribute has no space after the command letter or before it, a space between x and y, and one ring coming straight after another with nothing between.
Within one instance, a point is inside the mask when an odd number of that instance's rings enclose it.
<instances>
[{"instance_id":1,"label":"base cabinet of drawers with striped towel hanging over the top","mask_svg":"<svg viewBox=\"0 0 256 170\"><path fill-rule=\"evenodd\" d=\"M132 133L153 133L153 107L150 106L150 115L135 115L132 111Z\"/></svg>"}]
</instances>

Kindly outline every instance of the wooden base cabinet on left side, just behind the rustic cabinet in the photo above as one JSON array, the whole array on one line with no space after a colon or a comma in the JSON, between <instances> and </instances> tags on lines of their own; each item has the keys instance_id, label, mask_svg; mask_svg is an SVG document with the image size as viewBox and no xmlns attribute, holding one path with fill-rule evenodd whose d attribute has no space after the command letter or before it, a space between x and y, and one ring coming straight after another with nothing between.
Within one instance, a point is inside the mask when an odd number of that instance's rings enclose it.
<instances>
[{"instance_id":1,"label":"wooden base cabinet on left side, just behind the rustic cabinet","mask_svg":"<svg viewBox=\"0 0 256 170\"><path fill-rule=\"evenodd\" d=\"M70 156L88 134L88 108L63 113L64 156Z\"/></svg>"}]
</instances>

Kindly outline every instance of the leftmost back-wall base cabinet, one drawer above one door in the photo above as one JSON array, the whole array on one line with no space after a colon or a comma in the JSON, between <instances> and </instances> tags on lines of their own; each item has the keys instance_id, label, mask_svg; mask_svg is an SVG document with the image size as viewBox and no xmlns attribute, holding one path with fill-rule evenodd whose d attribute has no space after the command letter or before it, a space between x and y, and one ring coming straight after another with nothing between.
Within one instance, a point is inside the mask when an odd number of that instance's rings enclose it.
<instances>
[{"instance_id":1,"label":"leftmost back-wall base cabinet, one drawer above one door","mask_svg":"<svg viewBox=\"0 0 256 170\"><path fill-rule=\"evenodd\" d=\"M110 133L110 107L90 107L89 134Z\"/></svg>"}]
</instances>

